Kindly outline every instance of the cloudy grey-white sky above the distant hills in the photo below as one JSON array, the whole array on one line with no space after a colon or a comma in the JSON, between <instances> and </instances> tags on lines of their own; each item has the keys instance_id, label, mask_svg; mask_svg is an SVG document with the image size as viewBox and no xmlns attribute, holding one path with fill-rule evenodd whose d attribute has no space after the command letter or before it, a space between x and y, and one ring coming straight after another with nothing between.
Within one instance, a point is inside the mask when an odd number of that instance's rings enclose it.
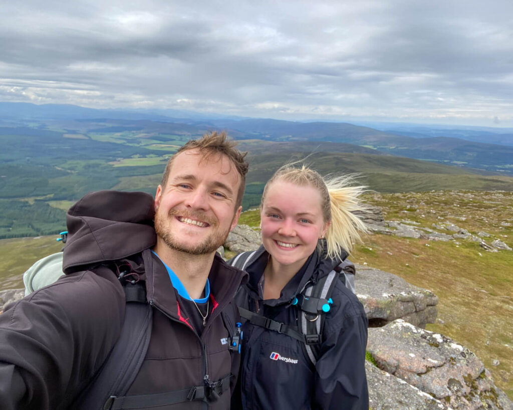
<instances>
[{"instance_id":1,"label":"cloudy grey-white sky above the distant hills","mask_svg":"<svg viewBox=\"0 0 513 410\"><path fill-rule=\"evenodd\" d=\"M3 2L0 101L513 126L513 1Z\"/></svg>"}]
</instances>

